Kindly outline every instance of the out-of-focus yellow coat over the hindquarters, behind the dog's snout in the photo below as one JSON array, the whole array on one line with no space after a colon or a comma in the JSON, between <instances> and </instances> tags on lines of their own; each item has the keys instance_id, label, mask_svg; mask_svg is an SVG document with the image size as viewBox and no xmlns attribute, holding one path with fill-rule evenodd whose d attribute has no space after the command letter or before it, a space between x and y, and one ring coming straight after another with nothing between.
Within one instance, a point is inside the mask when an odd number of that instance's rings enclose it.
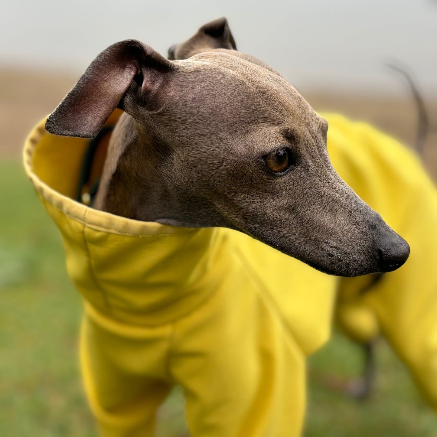
<instances>
[{"instance_id":1,"label":"out-of-focus yellow coat over the hindquarters, behind the dog's snout","mask_svg":"<svg viewBox=\"0 0 437 437\"><path fill-rule=\"evenodd\" d=\"M371 278L342 278L336 320L354 340L385 336L437 411L437 191L395 139L363 123L329 121L328 149L340 176L411 248L406 264ZM365 290L365 291L362 291Z\"/></svg>"}]
</instances>

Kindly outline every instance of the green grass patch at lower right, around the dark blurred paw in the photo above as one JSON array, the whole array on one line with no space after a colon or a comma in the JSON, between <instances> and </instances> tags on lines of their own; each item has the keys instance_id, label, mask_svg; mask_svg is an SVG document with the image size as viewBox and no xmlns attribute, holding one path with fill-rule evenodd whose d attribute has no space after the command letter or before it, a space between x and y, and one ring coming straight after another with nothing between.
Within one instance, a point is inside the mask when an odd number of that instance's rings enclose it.
<instances>
[{"instance_id":1,"label":"green grass patch at lower right, around the dark blurred paw","mask_svg":"<svg viewBox=\"0 0 437 437\"><path fill-rule=\"evenodd\" d=\"M437 437L437 417L389 346L377 345L376 382L365 401L329 389L326 380L360 374L362 350L340 334L310 358L308 437Z\"/></svg>"}]
</instances>

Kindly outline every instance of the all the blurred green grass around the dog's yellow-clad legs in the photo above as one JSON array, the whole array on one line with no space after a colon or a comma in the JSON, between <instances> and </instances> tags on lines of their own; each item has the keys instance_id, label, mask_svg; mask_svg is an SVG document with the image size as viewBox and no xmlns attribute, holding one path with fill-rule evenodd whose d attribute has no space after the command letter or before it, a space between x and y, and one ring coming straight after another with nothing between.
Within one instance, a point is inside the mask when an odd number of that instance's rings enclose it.
<instances>
[{"instance_id":1,"label":"all the blurred green grass around the dog's yellow-clad legs","mask_svg":"<svg viewBox=\"0 0 437 437\"><path fill-rule=\"evenodd\" d=\"M0 436L96 436L77 357L80 297L58 231L17 162L0 162L0 229ZM360 354L335 335L311 358L305 437L437 437L434 413L384 343L371 399L327 388L358 375ZM158 437L185 435L179 390L158 417Z\"/></svg>"}]
</instances>

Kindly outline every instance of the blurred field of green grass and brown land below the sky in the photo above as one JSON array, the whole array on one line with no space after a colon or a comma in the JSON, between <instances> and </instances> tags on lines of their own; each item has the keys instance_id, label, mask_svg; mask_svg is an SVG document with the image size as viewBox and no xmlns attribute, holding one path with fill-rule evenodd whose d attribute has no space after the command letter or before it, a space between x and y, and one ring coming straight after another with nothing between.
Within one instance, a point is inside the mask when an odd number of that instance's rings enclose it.
<instances>
[{"instance_id":1,"label":"blurred field of green grass and brown land below the sky","mask_svg":"<svg viewBox=\"0 0 437 437\"><path fill-rule=\"evenodd\" d=\"M25 135L59 103L75 77L0 71L0 436L95 436L77 359L81 302L66 276L55 226L21 168ZM398 80L398 79L394 79ZM399 98L305 93L316 109L371 121L412 144L416 112ZM437 176L437 100L425 100L426 165ZM361 351L340 335L310 360L306 437L437 437L437 418L388 347L378 348L372 398L355 402L326 387L357 375ZM180 391L159 413L158 437L186 436Z\"/></svg>"}]
</instances>

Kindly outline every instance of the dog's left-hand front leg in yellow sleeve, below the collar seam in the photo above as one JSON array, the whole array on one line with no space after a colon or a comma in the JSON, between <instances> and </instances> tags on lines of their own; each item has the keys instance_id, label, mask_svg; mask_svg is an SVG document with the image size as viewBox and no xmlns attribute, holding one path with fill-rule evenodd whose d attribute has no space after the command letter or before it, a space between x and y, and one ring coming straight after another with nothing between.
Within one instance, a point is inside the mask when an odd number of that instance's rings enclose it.
<instances>
[{"instance_id":1,"label":"dog's left-hand front leg in yellow sleeve, below the collar seam","mask_svg":"<svg viewBox=\"0 0 437 437\"><path fill-rule=\"evenodd\" d=\"M140 330L125 336L83 320L82 373L102 437L152 437L156 409L170 392L160 378L168 328Z\"/></svg>"}]
</instances>

